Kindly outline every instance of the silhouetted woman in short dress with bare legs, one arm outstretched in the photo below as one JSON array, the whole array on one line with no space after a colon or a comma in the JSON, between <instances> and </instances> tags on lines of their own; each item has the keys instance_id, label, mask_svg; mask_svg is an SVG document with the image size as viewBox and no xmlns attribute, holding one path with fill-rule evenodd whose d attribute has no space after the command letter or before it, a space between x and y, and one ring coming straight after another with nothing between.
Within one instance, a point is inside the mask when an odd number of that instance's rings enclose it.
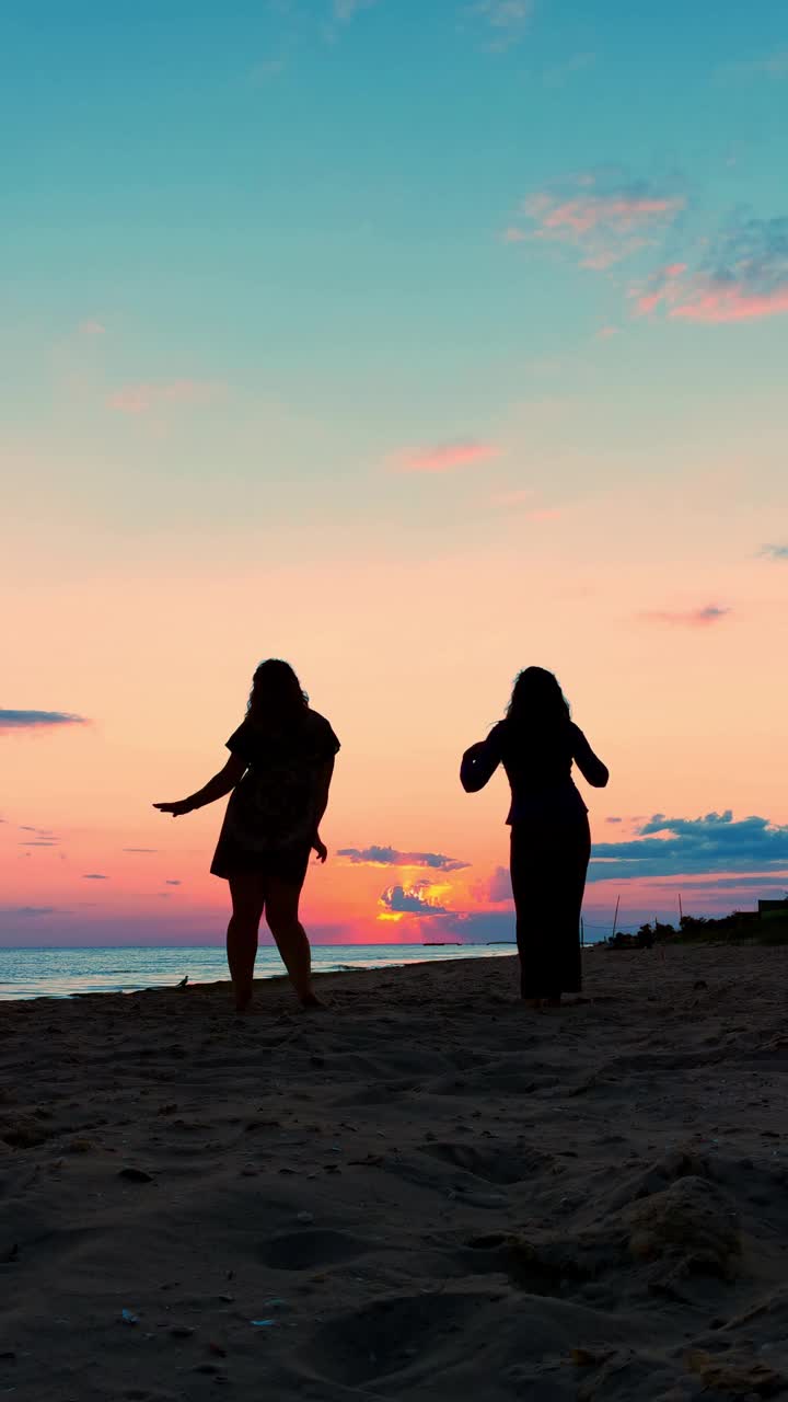
<instances>
[{"instance_id":1,"label":"silhouetted woman in short dress with bare legs, one arm outstretched","mask_svg":"<svg viewBox=\"0 0 788 1402\"><path fill-rule=\"evenodd\" d=\"M230 883L227 962L236 1007L243 1012L251 1001L264 911L303 1007L320 1007L299 899L310 852L321 862L328 855L318 829L339 740L310 709L290 665L271 658L254 674L245 719L227 749L227 764L205 788L154 808L179 817L230 794L210 871Z\"/></svg>"}]
</instances>

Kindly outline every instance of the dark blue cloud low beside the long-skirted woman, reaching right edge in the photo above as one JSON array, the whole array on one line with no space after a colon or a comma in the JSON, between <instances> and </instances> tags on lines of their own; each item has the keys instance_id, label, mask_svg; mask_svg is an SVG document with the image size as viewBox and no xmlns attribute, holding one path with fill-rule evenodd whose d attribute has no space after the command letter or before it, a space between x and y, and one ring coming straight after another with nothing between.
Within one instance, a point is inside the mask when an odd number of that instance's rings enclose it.
<instances>
[{"instance_id":1,"label":"dark blue cloud low beside the long-skirted woman, reaching right edge","mask_svg":"<svg viewBox=\"0 0 788 1402\"><path fill-rule=\"evenodd\" d=\"M659 836L656 836L659 834ZM767 817L655 813L625 843L595 843L589 880L788 868L788 826Z\"/></svg>"}]
</instances>

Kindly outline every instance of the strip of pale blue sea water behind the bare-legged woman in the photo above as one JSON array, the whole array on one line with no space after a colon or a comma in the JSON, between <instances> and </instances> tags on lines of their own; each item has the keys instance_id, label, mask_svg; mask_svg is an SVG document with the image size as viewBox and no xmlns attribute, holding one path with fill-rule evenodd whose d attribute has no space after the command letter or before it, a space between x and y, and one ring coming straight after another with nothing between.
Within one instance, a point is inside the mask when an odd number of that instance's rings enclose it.
<instances>
[{"instance_id":1,"label":"strip of pale blue sea water behind the bare-legged woman","mask_svg":"<svg viewBox=\"0 0 788 1402\"><path fill-rule=\"evenodd\" d=\"M436 959L512 955L513 945L313 945L313 967L386 969ZM276 949L262 945L255 974L283 973ZM70 998L79 993L133 993L167 988L188 974L189 983L227 979L223 945L121 945L95 949L0 949L0 1000Z\"/></svg>"}]
</instances>

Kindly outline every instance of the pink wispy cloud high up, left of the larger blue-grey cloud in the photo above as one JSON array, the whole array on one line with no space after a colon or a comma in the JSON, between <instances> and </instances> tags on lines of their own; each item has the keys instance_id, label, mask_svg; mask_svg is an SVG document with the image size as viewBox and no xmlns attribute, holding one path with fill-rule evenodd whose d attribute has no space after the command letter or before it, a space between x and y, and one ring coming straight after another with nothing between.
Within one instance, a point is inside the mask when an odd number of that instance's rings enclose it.
<instances>
[{"instance_id":1,"label":"pink wispy cloud high up, left of the larger blue-grey cloud","mask_svg":"<svg viewBox=\"0 0 788 1402\"><path fill-rule=\"evenodd\" d=\"M684 206L676 191L590 172L572 186L529 195L503 240L565 245L583 268L604 271L663 234Z\"/></svg>"}]
</instances>

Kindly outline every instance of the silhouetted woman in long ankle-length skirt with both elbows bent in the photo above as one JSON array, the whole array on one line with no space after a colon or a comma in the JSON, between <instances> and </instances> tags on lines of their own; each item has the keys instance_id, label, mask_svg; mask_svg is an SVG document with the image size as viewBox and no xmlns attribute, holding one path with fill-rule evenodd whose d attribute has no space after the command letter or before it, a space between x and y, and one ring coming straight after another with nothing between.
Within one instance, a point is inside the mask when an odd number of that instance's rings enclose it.
<instances>
[{"instance_id":1,"label":"silhouetted woman in long ankle-length skirt with both elbows bent","mask_svg":"<svg viewBox=\"0 0 788 1402\"><path fill-rule=\"evenodd\" d=\"M607 768L573 725L557 679L526 667L503 721L463 756L468 794L499 764L512 787L512 893L517 916L520 994L533 1008L558 1007L580 993L580 906L590 857L587 809L572 782L572 761L595 788Z\"/></svg>"}]
</instances>

